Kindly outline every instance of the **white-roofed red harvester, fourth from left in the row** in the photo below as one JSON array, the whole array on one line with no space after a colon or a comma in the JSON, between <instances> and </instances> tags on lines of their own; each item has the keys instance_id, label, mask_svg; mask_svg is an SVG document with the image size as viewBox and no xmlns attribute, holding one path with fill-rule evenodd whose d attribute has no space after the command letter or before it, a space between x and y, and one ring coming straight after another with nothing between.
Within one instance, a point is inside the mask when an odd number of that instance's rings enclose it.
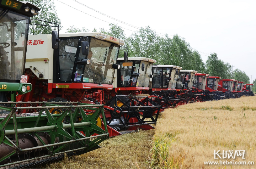
<instances>
[{"instance_id":1,"label":"white-roofed red harvester, fourth from left in the row","mask_svg":"<svg viewBox=\"0 0 256 169\"><path fill-rule=\"evenodd\" d=\"M149 95L157 96L163 108L176 107L181 98L176 91L176 84L181 67L172 65L153 65L149 83Z\"/></svg>"}]
</instances>

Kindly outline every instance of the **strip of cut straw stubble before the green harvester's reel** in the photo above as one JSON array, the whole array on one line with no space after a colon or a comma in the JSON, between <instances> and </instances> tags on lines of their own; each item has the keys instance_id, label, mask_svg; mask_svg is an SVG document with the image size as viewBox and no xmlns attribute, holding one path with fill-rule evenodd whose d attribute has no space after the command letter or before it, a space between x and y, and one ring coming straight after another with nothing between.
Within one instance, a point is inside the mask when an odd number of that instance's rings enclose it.
<instances>
[{"instance_id":1,"label":"strip of cut straw stubble before the green harvester's reel","mask_svg":"<svg viewBox=\"0 0 256 169\"><path fill-rule=\"evenodd\" d=\"M149 152L154 131L139 131L113 137L95 151L65 158L40 168L149 168Z\"/></svg>"}]
</instances>

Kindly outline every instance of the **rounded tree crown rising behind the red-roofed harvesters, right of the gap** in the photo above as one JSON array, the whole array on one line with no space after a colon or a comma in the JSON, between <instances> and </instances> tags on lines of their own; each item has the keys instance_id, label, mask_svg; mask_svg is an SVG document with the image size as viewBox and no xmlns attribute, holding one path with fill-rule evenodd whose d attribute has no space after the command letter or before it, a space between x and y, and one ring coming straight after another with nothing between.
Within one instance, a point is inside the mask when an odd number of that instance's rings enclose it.
<instances>
[{"instance_id":1,"label":"rounded tree crown rising behind the red-roofed harvesters, right of the gap","mask_svg":"<svg viewBox=\"0 0 256 169\"><path fill-rule=\"evenodd\" d=\"M222 77L222 79L231 79L232 70L229 63L224 63L217 56L217 53L211 53L206 61L206 72L210 76Z\"/></svg>"}]
</instances>

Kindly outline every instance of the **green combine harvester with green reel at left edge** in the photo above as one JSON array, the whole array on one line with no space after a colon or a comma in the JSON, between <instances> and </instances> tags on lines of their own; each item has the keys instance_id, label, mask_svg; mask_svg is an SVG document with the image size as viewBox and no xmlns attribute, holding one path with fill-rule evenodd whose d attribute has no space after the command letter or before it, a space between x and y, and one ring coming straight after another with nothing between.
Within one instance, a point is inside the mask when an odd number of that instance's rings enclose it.
<instances>
[{"instance_id":1,"label":"green combine harvester with green reel at left edge","mask_svg":"<svg viewBox=\"0 0 256 169\"><path fill-rule=\"evenodd\" d=\"M80 155L109 137L103 105L16 102L32 88L24 69L30 18L39 11L27 2L0 0L0 168L34 167ZM106 130L97 126L100 115Z\"/></svg>"}]
</instances>

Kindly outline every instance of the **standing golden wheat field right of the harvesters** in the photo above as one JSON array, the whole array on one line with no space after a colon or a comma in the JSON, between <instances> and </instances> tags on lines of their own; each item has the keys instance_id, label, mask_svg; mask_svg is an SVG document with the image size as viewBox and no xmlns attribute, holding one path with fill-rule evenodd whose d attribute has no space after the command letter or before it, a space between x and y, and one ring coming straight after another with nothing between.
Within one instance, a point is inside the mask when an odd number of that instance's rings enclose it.
<instances>
[{"instance_id":1,"label":"standing golden wheat field right of the harvesters","mask_svg":"<svg viewBox=\"0 0 256 169\"><path fill-rule=\"evenodd\" d=\"M235 161L256 164L255 103L256 96L167 109L156 125L151 167L255 168L255 165L204 165L206 161L214 161L214 150L246 150L245 160Z\"/></svg>"}]
</instances>

